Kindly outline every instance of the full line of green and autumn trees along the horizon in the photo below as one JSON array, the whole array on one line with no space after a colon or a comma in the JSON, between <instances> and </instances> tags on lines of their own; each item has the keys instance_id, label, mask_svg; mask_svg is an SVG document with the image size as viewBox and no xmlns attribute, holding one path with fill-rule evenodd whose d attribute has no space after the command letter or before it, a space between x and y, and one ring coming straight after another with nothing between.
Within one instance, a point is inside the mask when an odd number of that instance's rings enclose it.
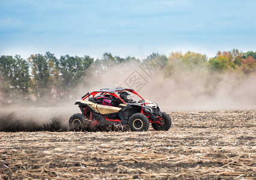
<instances>
[{"instance_id":1,"label":"full line of green and autumn trees along the horizon","mask_svg":"<svg viewBox=\"0 0 256 180\"><path fill-rule=\"evenodd\" d=\"M171 52L169 56L151 53L145 59L127 56L113 56L104 53L102 59L64 55L56 58L53 53L35 54L23 59L19 55L0 57L0 98L5 102L13 102L22 96L23 100L38 100L49 97L62 99L67 97L69 88L76 86L88 74L102 73L114 65L127 62L145 62L159 59L163 65L166 78L174 76L182 70L207 69L215 73L227 71L239 73L241 76L253 76L256 73L256 52L239 52L237 49L218 52L214 58L195 52Z\"/></svg>"}]
</instances>

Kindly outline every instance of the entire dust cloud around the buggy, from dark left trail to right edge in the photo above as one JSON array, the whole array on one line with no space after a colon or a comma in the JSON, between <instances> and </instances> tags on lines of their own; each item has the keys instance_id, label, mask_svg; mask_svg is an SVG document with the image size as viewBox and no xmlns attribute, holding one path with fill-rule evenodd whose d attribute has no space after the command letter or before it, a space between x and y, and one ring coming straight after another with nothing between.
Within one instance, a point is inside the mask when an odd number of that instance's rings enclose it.
<instances>
[{"instance_id":1,"label":"entire dust cloud around the buggy, from dark left trail to right edge","mask_svg":"<svg viewBox=\"0 0 256 180\"><path fill-rule=\"evenodd\" d=\"M246 77L234 72L216 73L205 68L177 68L167 77L165 68L152 68L148 73L140 65L133 62L100 71L91 67L80 85L70 87L70 98L66 101L56 103L47 100L46 105L36 107L26 103L9 106L3 103L0 107L0 131L67 131L70 116L80 113L75 101L81 100L87 92L109 86L133 88L145 99L156 102L163 112L256 109L255 74ZM103 131L103 127L107 126L99 124L95 128L87 124L84 130ZM114 130L111 127L114 126L108 125L105 130Z\"/></svg>"}]
</instances>

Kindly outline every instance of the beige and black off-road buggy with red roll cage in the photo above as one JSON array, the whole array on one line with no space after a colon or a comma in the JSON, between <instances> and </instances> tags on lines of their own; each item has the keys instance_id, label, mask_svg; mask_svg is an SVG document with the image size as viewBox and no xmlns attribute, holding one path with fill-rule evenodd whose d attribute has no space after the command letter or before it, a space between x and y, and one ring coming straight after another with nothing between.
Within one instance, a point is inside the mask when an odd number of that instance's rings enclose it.
<instances>
[{"instance_id":1,"label":"beige and black off-road buggy with red roll cage","mask_svg":"<svg viewBox=\"0 0 256 180\"><path fill-rule=\"evenodd\" d=\"M138 101L128 99L132 93ZM133 89L111 87L100 91L87 92L82 100L77 100L82 113L76 113L69 119L71 130L79 130L84 121L112 121L129 125L131 131L147 131L149 124L154 130L168 131L171 118L161 112L153 101L145 100Z\"/></svg>"}]
</instances>

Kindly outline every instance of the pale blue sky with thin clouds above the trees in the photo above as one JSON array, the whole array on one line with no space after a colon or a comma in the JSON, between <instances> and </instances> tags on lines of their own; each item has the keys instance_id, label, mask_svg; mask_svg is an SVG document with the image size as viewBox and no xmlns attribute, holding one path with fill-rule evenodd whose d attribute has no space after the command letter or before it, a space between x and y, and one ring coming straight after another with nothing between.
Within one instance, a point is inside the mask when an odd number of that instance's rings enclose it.
<instances>
[{"instance_id":1,"label":"pale blue sky with thin clouds above the trees","mask_svg":"<svg viewBox=\"0 0 256 180\"><path fill-rule=\"evenodd\" d=\"M0 0L0 55L256 51L256 1Z\"/></svg>"}]
</instances>

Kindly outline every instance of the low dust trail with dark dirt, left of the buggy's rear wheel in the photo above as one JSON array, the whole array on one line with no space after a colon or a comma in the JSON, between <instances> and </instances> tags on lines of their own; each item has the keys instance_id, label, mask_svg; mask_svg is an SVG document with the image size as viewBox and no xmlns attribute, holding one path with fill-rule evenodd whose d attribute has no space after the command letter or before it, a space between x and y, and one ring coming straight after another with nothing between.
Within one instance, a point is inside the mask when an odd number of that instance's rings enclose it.
<instances>
[{"instance_id":1,"label":"low dust trail with dark dirt, left of the buggy's rear wheel","mask_svg":"<svg viewBox=\"0 0 256 180\"><path fill-rule=\"evenodd\" d=\"M65 117L53 109L0 109L0 131L67 131Z\"/></svg>"}]
</instances>

